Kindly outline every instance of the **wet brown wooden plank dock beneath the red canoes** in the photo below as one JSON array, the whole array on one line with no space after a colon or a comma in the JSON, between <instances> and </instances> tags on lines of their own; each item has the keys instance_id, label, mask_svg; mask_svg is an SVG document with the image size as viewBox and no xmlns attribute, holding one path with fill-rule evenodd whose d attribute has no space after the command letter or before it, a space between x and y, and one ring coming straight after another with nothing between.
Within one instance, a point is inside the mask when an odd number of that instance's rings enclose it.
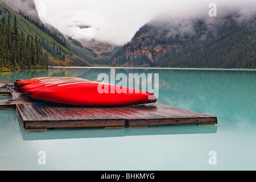
<instances>
[{"instance_id":1,"label":"wet brown wooden plank dock beneath the red canoes","mask_svg":"<svg viewBox=\"0 0 256 182\"><path fill-rule=\"evenodd\" d=\"M13 100L1 101L0 108L15 107L26 130L217 124L217 117L212 115L158 103L125 107L73 107L32 100L12 85L9 91Z\"/></svg>"}]
</instances>

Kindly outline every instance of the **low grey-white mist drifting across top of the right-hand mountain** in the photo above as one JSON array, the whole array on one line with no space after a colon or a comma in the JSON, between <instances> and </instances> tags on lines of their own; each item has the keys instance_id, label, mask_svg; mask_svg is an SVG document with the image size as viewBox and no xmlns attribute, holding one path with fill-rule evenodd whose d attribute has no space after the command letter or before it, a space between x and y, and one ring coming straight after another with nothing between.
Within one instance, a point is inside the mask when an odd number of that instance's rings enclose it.
<instances>
[{"instance_id":1,"label":"low grey-white mist drifting across top of the right-hand mountain","mask_svg":"<svg viewBox=\"0 0 256 182\"><path fill-rule=\"evenodd\" d=\"M230 7L231 6L231 7ZM196 11L197 10L197 11ZM157 27L160 32L168 31L166 36L195 36L198 28L197 23L204 22L205 34L216 33L217 28L225 23L226 18L232 18L232 22L242 23L253 19L256 15L256 4L251 6L229 5L217 6L216 17L208 15L209 9L196 9L185 11L184 14L168 13L156 16L147 25ZM203 38L203 37L202 37Z\"/></svg>"}]
</instances>

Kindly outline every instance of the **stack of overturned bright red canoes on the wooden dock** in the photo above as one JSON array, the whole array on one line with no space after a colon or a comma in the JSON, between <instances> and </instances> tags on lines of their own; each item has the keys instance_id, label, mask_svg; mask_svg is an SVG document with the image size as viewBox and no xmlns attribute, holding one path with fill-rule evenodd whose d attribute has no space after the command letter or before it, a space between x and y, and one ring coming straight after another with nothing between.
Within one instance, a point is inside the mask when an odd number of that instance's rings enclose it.
<instances>
[{"instance_id":1,"label":"stack of overturned bright red canoes on the wooden dock","mask_svg":"<svg viewBox=\"0 0 256 182\"><path fill-rule=\"evenodd\" d=\"M126 106L157 100L154 94L142 90L75 77L32 78L16 81L14 85L19 92L36 100L74 106Z\"/></svg>"}]
</instances>

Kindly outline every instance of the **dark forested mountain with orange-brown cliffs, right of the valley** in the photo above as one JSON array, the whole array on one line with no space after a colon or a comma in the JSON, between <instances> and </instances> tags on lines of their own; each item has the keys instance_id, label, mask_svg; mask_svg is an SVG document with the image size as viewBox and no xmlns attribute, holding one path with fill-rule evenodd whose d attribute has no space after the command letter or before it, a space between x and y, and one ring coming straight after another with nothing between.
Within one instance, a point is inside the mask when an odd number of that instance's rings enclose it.
<instances>
[{"instance_id":1,"label":"dark forested mountain with orange-brown cliffs, right of the valley","mask_svg":"<svg viewBox=\"0 0 256 182\"><path fill-rule=\"evenodd\" d=\"M256 16L163 21L142 26L113 57L113 66L255 68Z\"/></svg>"}]
</instances>

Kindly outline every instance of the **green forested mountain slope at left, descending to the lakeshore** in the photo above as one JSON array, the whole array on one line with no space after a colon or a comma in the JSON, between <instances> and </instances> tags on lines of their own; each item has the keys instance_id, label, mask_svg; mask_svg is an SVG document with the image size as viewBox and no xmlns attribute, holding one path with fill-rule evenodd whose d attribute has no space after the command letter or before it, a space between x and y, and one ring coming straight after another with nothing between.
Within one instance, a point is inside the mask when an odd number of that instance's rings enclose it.
<instances>
[{"instance_id":1,"label":"green forested mountain slope at left, descending to the lakeshore","mask_svg":"<svg viewBox=\"0 0 256 182\"><path fill-rule=\"evenodd\" d=\"M90 66L88 61L80 58L80 55L85 55L90 61L96 57L92 51L77 47L53 27L44 26L22 12L17 13L3 2L0 2L0 20L2 27L0 59L3 60L0 66L2 68L42 68L48 65ZM6 44L10 45L6 46ZM39 48L32 49L31 47L35 45ZM25 49L30 53L22 52ZM35 50L39 51L40 55L47 57L48 61L41 64L38 59L35 59L34 55L39 55L38 52L35 53ZM80 53L80 55L77 56L73 51ZM9 52L13 56L10 57ZM18 56L18 54L22 55L23 53L28 57ZM15 54L17 55L14 56ZM13 57L18 57L19 60L15 60L16 58L13 59Z\"/></svg>"}]
</instances>

